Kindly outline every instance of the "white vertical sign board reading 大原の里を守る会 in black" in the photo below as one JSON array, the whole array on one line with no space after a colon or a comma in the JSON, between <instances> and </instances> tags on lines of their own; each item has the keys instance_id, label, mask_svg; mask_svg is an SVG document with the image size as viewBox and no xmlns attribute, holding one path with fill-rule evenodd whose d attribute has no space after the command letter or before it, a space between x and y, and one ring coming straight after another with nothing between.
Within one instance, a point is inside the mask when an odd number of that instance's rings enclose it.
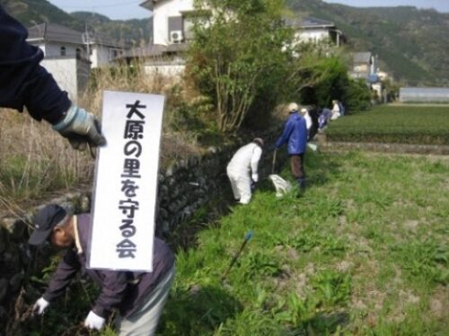
<instances>
[{"instance_id":1,"label":"white vertical sign board reading \u5927\u539f\u306e\u91cc\u3092\u5b88\u308b\u4f1a in black","mask_svg":"<svg viewBox=\"0 0 449 336\"><path fill-rule=\"evenodd\" d=\"M164 97L103 93L88 267L153 270L154 211Z\"/></svg>"}]
</instances>

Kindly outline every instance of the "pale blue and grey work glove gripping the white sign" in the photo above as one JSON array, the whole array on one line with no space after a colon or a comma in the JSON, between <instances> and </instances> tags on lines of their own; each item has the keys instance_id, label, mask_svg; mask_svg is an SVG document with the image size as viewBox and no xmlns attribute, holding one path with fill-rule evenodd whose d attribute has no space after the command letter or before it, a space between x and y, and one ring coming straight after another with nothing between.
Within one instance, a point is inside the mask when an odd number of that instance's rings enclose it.
<instances>
[{"instance_id":1,"label":"pale blue and grey work glove gripping the white sign","mask_svg":"<svg viewBox=\"0 0 449 336\"><path fill-rule=\"evenodd\" d=\"M84 109L72 105L66 112L64 119L53 125L61 136L66 137L74 149L84 151L87 144L90 146L102 146L106 139L101 136L100 123Z\"/></svg>"}]
</instances>

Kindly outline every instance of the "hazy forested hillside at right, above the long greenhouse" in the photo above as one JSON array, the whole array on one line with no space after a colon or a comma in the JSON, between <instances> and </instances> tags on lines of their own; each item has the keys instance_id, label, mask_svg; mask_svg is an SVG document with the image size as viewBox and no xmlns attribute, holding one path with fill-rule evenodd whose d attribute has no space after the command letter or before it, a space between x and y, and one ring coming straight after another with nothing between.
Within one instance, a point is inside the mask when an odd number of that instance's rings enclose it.
<instances>
[{"instance_id":1,"label":"hazy forested hillside at right, above the long greenhouse","mask_svg":"<svg viewBox=\"0 0 449 336\"><path fill-rule=\"evenodd\" d=\"M321 0L286 0L298 15L334 22L350 49L377 54L407 84L449 85L449 13L415 7L355 8Z\"/></svg>"}]
</instances>

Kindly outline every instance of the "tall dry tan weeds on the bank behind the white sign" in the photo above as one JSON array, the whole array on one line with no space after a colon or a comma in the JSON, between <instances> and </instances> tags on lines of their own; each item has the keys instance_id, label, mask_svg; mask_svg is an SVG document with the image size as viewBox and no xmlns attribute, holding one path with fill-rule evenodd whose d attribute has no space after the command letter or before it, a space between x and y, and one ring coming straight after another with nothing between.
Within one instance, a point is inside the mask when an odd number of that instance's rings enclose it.
<instances>
[{"instance_id":1,"label":"tall dry tan weeds on the bank behind the white sign","mask_svg":"<svg viewBox=\"0 0 449 336\"><path fill-rule=\"evenodd\" d=\"M179 81L148 76L141 64L102 69L92 74L79 104L100 118L103 90L165 95L161 164L166 165L224 141L211 126L211 103ZM71 190L92 182L94 160L88 151L73 150L47 122L38 122L27 114L0 109L2 215L12 209L31 208L55 190Z\"/></svg>"}]
</instances>

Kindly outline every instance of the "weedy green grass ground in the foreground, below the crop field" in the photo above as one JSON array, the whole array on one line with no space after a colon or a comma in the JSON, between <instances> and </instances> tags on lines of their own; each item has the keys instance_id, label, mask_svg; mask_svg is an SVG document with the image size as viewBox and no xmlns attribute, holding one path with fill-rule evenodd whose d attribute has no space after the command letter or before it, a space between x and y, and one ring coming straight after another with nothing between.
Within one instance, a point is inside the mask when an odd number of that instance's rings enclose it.
<instances>
[{"instance_id":1,"label":"weedy green grass ground in the foreground, below the crop field","mask_svg":"<svg viewBox=\"0 0 449 336\"><path fill-rule=\"evenodd\" d=\"M447 334L449 159L308 153L306 169L303 195L277 199L265 179L248 206L189 223L202 230L177 252L158 334ZM49 309L48 334L89 311L85 293L95 294L77 286Z\"/></svg>"}]
</instances>

